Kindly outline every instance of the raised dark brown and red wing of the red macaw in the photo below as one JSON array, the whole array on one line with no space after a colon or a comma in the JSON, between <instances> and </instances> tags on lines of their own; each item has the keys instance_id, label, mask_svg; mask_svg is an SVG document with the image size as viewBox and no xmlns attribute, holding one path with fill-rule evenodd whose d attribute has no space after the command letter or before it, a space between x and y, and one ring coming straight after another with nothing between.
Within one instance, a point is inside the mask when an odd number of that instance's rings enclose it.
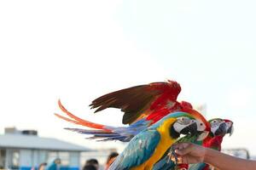
<instances>
[{"instance_id":1,"label":"raised dark brown and red wing of the red macaw","mask_svg":"<svg viewBox=\"0 0 256 170\"><path fill-rule=\"evenodd\" d=\"M174 105L181 87L177 82L153 82L132 88L125 88L110 94L105 94L92 101L91 109L95 112L107 108L118 108L125 112L124 124L131 124L137 118L149 115L166 105Z\"/></svg>"}]
</instances>

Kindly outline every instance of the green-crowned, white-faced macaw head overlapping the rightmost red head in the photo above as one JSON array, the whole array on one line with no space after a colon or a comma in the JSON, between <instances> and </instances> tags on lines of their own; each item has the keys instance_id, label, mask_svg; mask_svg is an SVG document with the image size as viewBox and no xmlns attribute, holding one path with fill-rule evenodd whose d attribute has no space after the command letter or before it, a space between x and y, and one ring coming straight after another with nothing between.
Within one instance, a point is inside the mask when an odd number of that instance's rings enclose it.
<instances>
[{"instance_id":1,"label":"green-crowned, white-faced macaw head overlapping the rightmost red head","mask_svg":"<svg viewBox=\"0 0 256 170\"><path fill-rule=\"evenodd\" d=\"M224 136L227 133L227 124L223 119L214 118L209 123L211 124L212 136Z\"/></svg>"}]
</instances>

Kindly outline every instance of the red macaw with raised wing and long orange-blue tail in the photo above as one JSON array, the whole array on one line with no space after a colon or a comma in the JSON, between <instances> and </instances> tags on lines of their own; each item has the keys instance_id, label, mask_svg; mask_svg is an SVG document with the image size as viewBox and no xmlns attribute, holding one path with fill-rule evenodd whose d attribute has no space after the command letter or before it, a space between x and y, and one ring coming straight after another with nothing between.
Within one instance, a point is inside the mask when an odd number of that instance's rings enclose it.
<instances>
[{"instance_id":1,"label":"red macaw with raised wing and long orange-blue tail","mask_svg":"<svg viewBox=\"0 0 256 170\"><path fill-rule=\"evenodd\" d=\"M92 108L98 108L96 112L109 107L119 108L124 111L123 123L130 124L128 127L111 127L86 121L67 111L61 105L60 100L58 102L59 107L69 118L59 114L55 115L68 122L94 128L93 130L66 128L78 133L92 134L93 136L90 139L127 142L162 117L172 114L174 111L184 111L201 120L201 122L198 122L198 126L201 126L202 132L205 131L205 133L201 133L201 139L205 138L210 131L210 125L204 116L192 109L192 105L188 102L177 102L177 95L180 91L181 87L177 82L153 82L148 85L125 88L92 101Z\"/></svg>"}]
</instances>

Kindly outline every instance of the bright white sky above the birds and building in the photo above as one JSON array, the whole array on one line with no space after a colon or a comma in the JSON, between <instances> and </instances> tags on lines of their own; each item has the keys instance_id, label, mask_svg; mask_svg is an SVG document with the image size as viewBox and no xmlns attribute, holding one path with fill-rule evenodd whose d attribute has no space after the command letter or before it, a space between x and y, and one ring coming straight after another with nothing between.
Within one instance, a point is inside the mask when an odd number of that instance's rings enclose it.
<instances>
[{"instance_id":1,"label":"bright white sky above the birds and building","mask_svg":"<svg viewBox=\"0 0 256 170\"><path fill-rule=\"evenodd\" d=\"M180 82L179 100L207 104L207 118L235 122L224 147L256 154L256 24L252 1L1 1L0 133L112 147L66 132L57 99L91 121L121 125L119 111L93 115L92 99L120 88Z\"/></svg>"}]
</instances>

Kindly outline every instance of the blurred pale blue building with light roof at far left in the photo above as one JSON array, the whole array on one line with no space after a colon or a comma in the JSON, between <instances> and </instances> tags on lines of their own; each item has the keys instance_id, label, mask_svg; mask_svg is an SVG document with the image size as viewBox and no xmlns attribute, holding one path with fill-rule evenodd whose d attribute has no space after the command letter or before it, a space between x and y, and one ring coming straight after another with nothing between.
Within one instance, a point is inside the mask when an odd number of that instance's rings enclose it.
<instances>
[{"instance_id":1,"label":"blurred pale blue building with light roof at far left","mask_svg":"<svg viewBox=\"0 0 256 170\"><path fill-rule=\"evenodd\" d=\"M0 135L0 169L31 170L58 157L62 170L79 170L80 153L93 151L59 139L38 137L35 130L7 127L4 132Z\"/></svg>"}]
</instances>

